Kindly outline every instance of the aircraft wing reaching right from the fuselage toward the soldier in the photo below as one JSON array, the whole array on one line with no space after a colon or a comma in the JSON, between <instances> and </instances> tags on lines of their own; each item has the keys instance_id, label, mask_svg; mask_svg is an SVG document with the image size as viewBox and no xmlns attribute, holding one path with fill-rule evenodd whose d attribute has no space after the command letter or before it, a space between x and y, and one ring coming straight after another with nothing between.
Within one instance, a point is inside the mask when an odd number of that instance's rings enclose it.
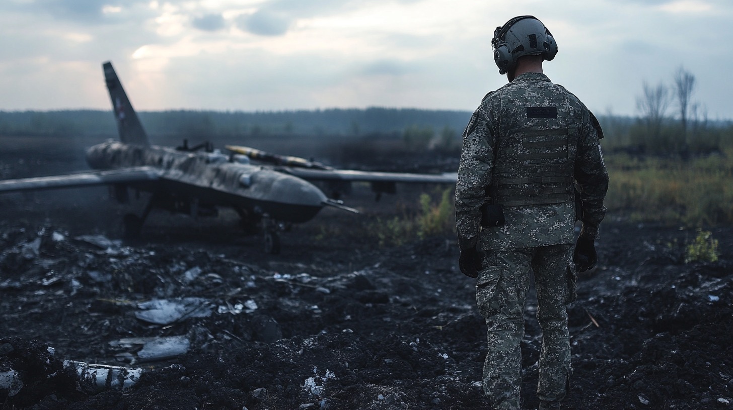
<instances>
[{"instance_id":1,"label":"aircraft wing reaching right from the fuselage toward the soldier","mask_svg":"<svg viewBox=\"0 0 733 410\"><path fill-rule=\"evenodd\" d=\"M344 181L344 182L399 182L423 184L455 184L457 173L443 174L410 174L402 172L354 171L349 169L320 170L309 168L276 168L287 174L298 176L308 181Z\"/></svg>"}]
</instances>

